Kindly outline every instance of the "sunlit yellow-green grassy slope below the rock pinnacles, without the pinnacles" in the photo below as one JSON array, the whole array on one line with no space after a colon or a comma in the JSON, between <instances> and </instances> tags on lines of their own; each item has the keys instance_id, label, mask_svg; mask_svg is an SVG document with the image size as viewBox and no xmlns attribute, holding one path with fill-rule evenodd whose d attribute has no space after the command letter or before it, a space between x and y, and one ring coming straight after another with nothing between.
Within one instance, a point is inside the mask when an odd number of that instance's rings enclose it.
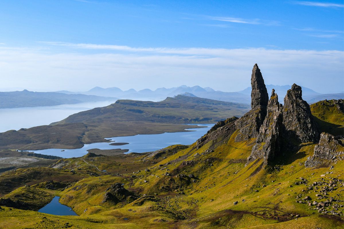
<instances>
[{"instance_id":1,"label":"sunlit yellow-green grassy slope below the rock pinnacles, without the pinnacles","mask_svg":"<svg viewBox=\"0 0 344 229\"><path fill-rule=\"evenodd\" d=\"M310 143L298 152L285 152L287 159L276 167L260 169L261 161L245 167L255 139L235 142L236 134L214 152L206 152L211 142L200 149L193 144L167 158L162 155L158 163L156 158L138 154L123 156L123 161L117 156L85 158L101 169L113 167L111 173L119 171L122 175L91 176L57 193L63 204L73 207L81 216L51 216L3 207L0 216L6 220L0 220L0 227L61 228L69 222L75 228L343 228L343 218L324 217L296 201L297 195L308 195L311 202L319 202L314 190L302 190L321 179L343 179L344 161L334 164L333 170L305 168L304 161L313 154L315 146ZM176 146L169 148L173 147ZM66 169L94 170L80 159L64 161L68 162ZM134 166L130 166L130 161ZM172 175L165 175L166 172ZM190 178L190 174L195 178ZM295 185L300 177L307 179L308 185ZM106 188L115 182L124 183L125 188L140 196L154 195L156 199L143 202L141 197L133 203L102 203ZM327 196L340 199L342 204L342 183ZM32 220L23 220L28 218Z\"/></svg>"}]
</instances>

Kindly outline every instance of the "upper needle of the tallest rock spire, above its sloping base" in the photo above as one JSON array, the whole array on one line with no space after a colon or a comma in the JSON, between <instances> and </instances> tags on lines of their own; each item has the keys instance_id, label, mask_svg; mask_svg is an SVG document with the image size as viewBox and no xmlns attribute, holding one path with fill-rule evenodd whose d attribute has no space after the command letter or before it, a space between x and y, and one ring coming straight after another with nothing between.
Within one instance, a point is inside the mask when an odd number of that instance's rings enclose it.
<instances>
[{"instance_id":1,"label":"upper needle of the tallest rock spire, above its sloping base","mask_svg":"<svg viewBox=\"0 0 344 229\"><path fill-rule=\"evenodd\" d=\"M255 64L252 69L251 87L251 108L253 109L259 105L267 106L269 95L257 64Z\"/></svg>"}]
</instances>

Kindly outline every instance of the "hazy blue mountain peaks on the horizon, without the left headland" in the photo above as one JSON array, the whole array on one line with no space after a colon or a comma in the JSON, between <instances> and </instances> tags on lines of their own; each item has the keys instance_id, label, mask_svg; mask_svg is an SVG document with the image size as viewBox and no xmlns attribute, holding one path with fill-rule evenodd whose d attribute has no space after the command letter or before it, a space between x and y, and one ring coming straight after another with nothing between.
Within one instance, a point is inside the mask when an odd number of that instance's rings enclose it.
<instances>
[{"instance_id":1,"label":"hazy blue mountain peaks on the horizon, without the left headland","mask_svg":"<svg viewBox=\"0 0 344 229\"><path fill-rule=\"evenodd\" d=\"M268 92L271 92L272 89L275 89L276 93L279 96L279 101L283 103L284 96L287 94L287 90L291 88L291 85L266 85ZM59 91L61 93L72 94L75 92L69 91ZM180 87L174 88L158 88L154 91L150 89L143 89L136 91L135 89L129 89L127 91L122 91L119 88L100 88L95 87L86 92L79 92L87 95L98 95L98 96L110 96L118 97L121 99L133 99L133 100L154 100L159 101L163 100L166 97L173 97L179 94L186 96L197 96L200 98L220 100L226 102L236 102L236 103L245 103L249 104L251 101L251 87L248 87L242 91L237 92L223 92L215 91L212 88L206 87L202 88L200 86L188 87L182 85ZM302 97L308 101L308 103L315 103L324 99L343 99L344 93L335 93L335 94L321 94L312 89L302 87Z\"/></svg>"}]
</instances>

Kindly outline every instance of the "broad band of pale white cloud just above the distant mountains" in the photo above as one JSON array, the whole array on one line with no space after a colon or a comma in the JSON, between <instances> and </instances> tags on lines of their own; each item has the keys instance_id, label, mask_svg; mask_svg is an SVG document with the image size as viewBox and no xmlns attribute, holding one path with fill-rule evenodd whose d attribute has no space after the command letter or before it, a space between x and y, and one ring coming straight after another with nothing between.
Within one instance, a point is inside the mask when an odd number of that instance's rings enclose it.
<instances>
[{"instance_id":1,"label":"broad band of pale white cloud just above the distant mountains","mask_svg":"<svg viewBox=\"0 0 344 229\"><path fill-rule=\"evenodd\" d=\"M155 89L186 84L238 91L250 85L255 63L267 84L297 83L320 92L341 91L343 85L344 52L336 50L50 44L78 49L53 53L0 47L2 87L84 91L95 86Z\"/></svg>"}]
</instances>

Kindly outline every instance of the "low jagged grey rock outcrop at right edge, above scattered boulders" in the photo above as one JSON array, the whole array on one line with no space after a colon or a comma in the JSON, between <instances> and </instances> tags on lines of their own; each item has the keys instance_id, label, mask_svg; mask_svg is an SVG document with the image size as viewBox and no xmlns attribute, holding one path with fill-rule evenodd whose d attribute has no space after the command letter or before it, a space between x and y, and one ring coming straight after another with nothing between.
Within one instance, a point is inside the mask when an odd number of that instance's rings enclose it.
<instances>
[{"instance_id":1,"label":"low jagged grey rock outcrop at right edge, above scattered boulders","mask_svg":"<svg viewBox=\"0 0 344 229\"><path fill-rule=\"evenodd\" d=\"M307 158L305 167L314 167L327 162L335 162L344 159L344 145L335 136L321 133L319 144L314 147L314 154Z\"/></svg>"}]
</instances>

